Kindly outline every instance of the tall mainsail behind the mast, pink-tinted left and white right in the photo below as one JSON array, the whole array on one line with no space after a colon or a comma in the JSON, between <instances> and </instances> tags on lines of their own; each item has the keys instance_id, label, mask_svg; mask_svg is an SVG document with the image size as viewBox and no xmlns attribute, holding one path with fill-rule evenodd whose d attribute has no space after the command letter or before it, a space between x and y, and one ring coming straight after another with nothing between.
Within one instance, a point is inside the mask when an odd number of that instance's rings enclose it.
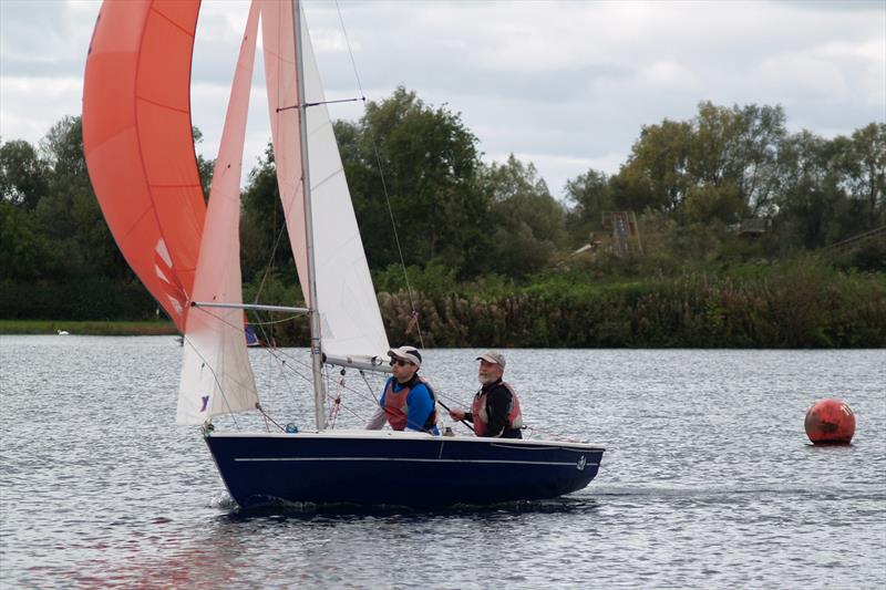
<instances>
[{"instance_id":1,"label":"tall mainsail behind the mast, pink-tinted left and white right","mask_svg":"<svg viewBox=\"0 0 886 590\"><path fill-rule=\"evenodd\" d=\"M292 42L295 24L291 17L290 2L262 2L265 68L277 179L299 280L306 299L309 299L305 206L300 185L301 138L297 125L299 110L292 108L298 103L295 73L298 60ZM327 355L382 358L389 349L388 337L332 123L326 104L322 104L326 99L303 14L301 34L305 95L311 105L305 111L318 299L315 304L309 301L309 306L320 313L320 342Z\"/></svg>"}]
</instances>

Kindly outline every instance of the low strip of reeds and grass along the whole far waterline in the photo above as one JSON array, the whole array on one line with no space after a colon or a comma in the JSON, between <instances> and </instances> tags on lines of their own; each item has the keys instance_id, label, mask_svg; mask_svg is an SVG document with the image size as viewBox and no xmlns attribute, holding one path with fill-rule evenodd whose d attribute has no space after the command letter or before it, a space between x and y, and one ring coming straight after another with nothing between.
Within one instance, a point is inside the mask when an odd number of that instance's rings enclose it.
<instances>
[{"instance_id":1,"label":"low strip of reeds and grass along the whole far waterline","mask_svg":"<svg viewBox=\"0 0 886 590\"><path fill-rule=\"evenodd\" d=\"M459 283L442 268L413 269L413 275L411 299L422 338L409 328L409 293L380 291L391 342L423 342L425 348L886 348L886 275L841 272L815 259L646 280L595 280L587 270L558 270L524 287L502 278ZM375 283L383 287L388 279L378 275ZM2 293L0 288L0 299ZM298 284L284 284L276 276L266 280L266 296L271 304L302 302ZM142 309L153 314L150 297L141 299ZM286 319L250 314L249 321L265 341L305 345L307 319ZM0 334L56 330L177 333L163 320L0 321Z\"/></svg>"}]
</instances>

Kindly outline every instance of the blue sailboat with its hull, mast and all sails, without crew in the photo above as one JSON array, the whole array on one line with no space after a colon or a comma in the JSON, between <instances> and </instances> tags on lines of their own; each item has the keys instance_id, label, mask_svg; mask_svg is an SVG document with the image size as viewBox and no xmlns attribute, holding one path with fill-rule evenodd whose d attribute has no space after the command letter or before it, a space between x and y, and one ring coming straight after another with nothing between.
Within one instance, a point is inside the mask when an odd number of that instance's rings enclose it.
<instances>
[{"instance_id":1,"label":"blue sailboat with its hull, mast and all sails, without crew","mask_svg":"<svg viewBox=\"0 0 886 590\"><path fill-rule=\"evenodd\" d=\"M202 426L230 496L245 508L443 507L587 486L600 446L328 427L326 372L390 371L390 346L303 11L289 0L250 6L208 206L190 127L198 11L198 0L105 0L86 61L83 141L120 249L183 333L176 420ZM243 302L239 179L259 22L277 179L305 308ZM255 309L310 320L310 428L222 432L213 423L262 412L244 339L244 310Z\"/></svg>"}]
</instances>

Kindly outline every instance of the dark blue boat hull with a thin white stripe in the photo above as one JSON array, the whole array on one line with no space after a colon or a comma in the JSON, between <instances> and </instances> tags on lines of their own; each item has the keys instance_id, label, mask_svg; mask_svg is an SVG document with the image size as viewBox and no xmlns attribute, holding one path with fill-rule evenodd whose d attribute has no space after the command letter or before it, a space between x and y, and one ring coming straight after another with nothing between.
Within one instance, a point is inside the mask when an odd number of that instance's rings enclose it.
<instances>
[{"instance_id":1,"label":"dark blue boat hull with a thin white stripe","mask_svg":"<svg viewBox=\"0 0 886 590\"><path fill-rule=\"evenodd\" d=\"M371 432L205 439L244 508L279 500L432 508L554 498L587 486L604 453L578 443Z\"/></svg>"}]
</instances>

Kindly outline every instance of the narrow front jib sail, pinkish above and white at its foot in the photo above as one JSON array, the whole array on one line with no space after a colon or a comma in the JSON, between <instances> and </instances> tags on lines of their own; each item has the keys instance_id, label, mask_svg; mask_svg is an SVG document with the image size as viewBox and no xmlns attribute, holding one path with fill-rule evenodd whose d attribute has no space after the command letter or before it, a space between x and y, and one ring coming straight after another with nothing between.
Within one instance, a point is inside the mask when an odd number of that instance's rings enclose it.
<instances>
[{"instance_id":1,"label":"narrow front jib sail, pinkish above and white at its foot","mask_svg":"<svg viewBox=\"0 0 886 590\"><path fill-rule=\"evenodd\" d=\"M222 144L213 174L194 281L194 301L243 303L240 276L240 172L258 6L253 4L234 74ZM178 424L255 408L258 402L240 309L194 308L185 324Z\"/></svg>"}]
</instances>

